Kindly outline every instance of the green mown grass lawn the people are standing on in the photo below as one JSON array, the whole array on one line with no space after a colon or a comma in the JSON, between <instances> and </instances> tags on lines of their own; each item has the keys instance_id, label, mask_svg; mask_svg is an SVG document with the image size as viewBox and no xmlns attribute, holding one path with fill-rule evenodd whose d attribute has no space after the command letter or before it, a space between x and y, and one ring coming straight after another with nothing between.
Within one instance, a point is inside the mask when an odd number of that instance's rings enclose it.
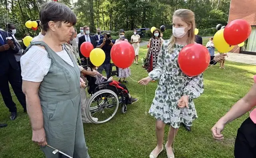
<instances>
[{"instance_id":1,"label":"green mown grass lawn the people are standing on","mask_svg":"<svg viewBox=\"0 0 256 158\"><path fill-rule=\"evenodd\" d=\"M140 57L146 53L146 47L140 49ZM141 62L140 62L141 63ZM147 73L141 65L131 66L132 79L138 81ZM226 62L226 69L218 65L210 67L204 73L205 91L196 99L198 119L193 122L192 132L180 128L175 138L175 158L233 158L234 140L240 124L248 117L243 117L228 124L223 132L225 139L212 138L210 129L230 107L242 98L253 84L252 76L256 66ZM86 143L91 158L148 158L156 146L155 119L148 112L154 97L157 82L146 86L148 103L145 104L145 87L128 79L127 87L132 96L140 100L128 105L126 114L120 110L112 120L104 124L84 124ZM43 158L39 146L31 141L32 131L29 118L18 107L18 117L9 120L10 113L0 98L0 122L7 123L0 128L0 158ZM165 128L164 142L167 140L168 126ZM159 158L166 158L165 150Z\"/></svg>"}]
</instances>

